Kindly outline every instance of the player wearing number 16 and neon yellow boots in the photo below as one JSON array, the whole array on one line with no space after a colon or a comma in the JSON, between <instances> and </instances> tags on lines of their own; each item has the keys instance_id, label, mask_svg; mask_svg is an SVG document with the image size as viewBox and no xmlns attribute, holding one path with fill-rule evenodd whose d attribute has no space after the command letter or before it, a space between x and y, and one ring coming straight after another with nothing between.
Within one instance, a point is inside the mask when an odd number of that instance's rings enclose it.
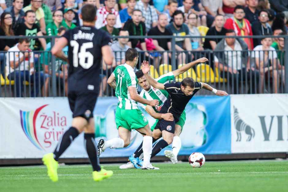
<instances>
[{"instance_id":1,"label":"player wearing number 16 and neon yellow boots","mask_svg":"<svg viewBox=\"0 0 288 192\"><path fill-rule=\"evenodd\" d=\"M95 6L83 6L80 18L83 26L67 31L51 49L53 55L69 63L68 100L73 112L72 126L63 134L55 151L46 154L42 159L50 179L54 182L58 181L59 157L83 131L94 181L113 175L112 171L100 168L93 120L93 109L99 93L101 59L108 65L111 65L113 60L112 50L108 45L110 38L105 32L94 27L97 19ZM62 51L66 45L68 57Z\"/></svg>"}]
</instances>

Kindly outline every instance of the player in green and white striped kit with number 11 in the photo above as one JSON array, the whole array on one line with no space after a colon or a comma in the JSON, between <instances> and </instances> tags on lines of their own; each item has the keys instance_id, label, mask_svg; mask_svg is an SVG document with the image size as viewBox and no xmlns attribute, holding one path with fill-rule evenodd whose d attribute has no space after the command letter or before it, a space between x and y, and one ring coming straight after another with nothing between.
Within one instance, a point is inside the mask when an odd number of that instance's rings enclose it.
<instances>
[{"instance_id":1,"label":"player in green and white striped kit with number 11","mask_svg":"<svg viewBox=\"0 0 288 192\"><path fill-rule=\"evenodd\" d=\"M137 94L138 80L134 73L134 67L138 63L138 52L129 48L125 54L126 63L119 65L108 78L107 83L115 89L119 99L116 109L116 127L120 138L108 141L100 139L98 142L98 155L106 148L123 148L130 144L131 129L136 129L143 135L144 163L142 169L159 169L150 163L152 152L152 132L148 121L137 102L145 105L157 106L158 100L147 100Z\"/></svg>"}]
</instances>

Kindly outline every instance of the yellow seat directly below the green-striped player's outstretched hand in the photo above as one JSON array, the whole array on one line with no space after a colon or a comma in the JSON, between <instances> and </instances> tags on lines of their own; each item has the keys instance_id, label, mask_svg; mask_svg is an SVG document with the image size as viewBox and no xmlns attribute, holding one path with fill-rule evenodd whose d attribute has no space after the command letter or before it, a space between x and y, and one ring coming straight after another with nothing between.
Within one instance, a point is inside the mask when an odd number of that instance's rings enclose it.
<instances>
[{"instance_id":1,"label":"yellow seat directly below the green-striped player's outstretched hand","mask_svg":"<svg viewBox=\"0 0 288 192\"><path fill-rule=\"evenodd\" d=\"M212 68L209 65L205 63L200 63L197 65L196 70L197 70L197 76L201 82L214 83L215 75Z\"/></svg>"}]
</instances>

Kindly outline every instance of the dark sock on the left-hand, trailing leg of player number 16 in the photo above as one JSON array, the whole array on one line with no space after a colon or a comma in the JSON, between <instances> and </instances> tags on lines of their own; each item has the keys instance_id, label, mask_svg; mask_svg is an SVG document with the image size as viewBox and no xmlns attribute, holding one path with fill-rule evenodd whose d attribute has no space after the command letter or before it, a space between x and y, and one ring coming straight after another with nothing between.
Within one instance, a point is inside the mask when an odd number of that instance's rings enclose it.
<instances>
[{"instance_id":1,"label":"dark sock on the left-hand, trailing leg of player number 16","mask_svg":"<svg viewBox=\"0 0 288 192\"><path fill-rule=\"evenodd\" d=\"M59 157L64 153L64 151L70 146L72 141L79 135L78 130L75 127L70 127L61 139L58 142L58 145L56 146L56 149L54 151L54 159L58 161Z\"/></svg>"}]
</instances>

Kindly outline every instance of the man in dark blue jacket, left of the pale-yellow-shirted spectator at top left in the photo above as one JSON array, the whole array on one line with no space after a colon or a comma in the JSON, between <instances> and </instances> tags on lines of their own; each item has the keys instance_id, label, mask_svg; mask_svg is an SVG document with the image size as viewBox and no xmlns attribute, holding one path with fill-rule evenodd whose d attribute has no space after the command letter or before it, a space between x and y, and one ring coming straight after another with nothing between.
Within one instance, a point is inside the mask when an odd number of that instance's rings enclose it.
<instances>
[{"instance_id":1,"label":"man in dark blue jacket, left of the pale-yellow-shirted spectator at top left","mask_svg":"<svg viewBox=\"0 0 288 192\"><path fill-rule=\"evenodd\" d=\"M12 16L12 29L15 31L20 23L24 23L25 12L23 9L23 0L13 0L13 6L8 7L4 12Z\"/></svg>"}]
</instances>

